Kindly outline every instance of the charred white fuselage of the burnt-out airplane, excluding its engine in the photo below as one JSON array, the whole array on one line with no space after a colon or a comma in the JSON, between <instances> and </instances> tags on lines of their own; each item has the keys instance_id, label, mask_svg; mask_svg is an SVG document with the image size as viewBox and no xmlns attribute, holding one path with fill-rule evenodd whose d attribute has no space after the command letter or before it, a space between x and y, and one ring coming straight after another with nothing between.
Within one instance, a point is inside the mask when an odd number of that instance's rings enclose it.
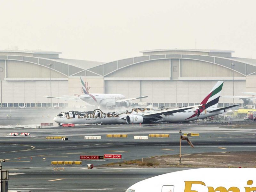
<instances>
[{"instance_id":1,"label":"charred white fuselage of the burnt-out airplane, excluding its engine","mask_svg":"<svg viewBox=\"0 0 256 192\"><path fill-rule=\"evenodd\" d=\"M213 113L209 113L208 111L215 110L217 108L209 107L203 112L200 113L199 116L194 116L192 118L192 115L195 114L196 108L185 110L184 112L177 112L173 113L173 115L160 115L163 119L157 120L158 122L188 122L188 121L194 121L197 119L204 119L206 117L211 117L215 115L219 115L222 113L225 113L224 110L216 111ZM97 110L94 110L97 111ZM54 117L54 121L59 124L126 124L126 120L124 119L127 115L138 115L143 116L143 114L150 114L153 112L157 112L159 110L149 109L149 110L143 110L140 109L132 109L132 111L126 111L126 112L112 112L112 113L102 113L100 110L100 115L95 116L95 112L91 113L84 113L83 115L75 114L75 117L73 118L67 118L66 113L60 113L62 116L57 115ZM149 116L143 117L146 120L150 119Z\"/></svg>"}]
</instances>

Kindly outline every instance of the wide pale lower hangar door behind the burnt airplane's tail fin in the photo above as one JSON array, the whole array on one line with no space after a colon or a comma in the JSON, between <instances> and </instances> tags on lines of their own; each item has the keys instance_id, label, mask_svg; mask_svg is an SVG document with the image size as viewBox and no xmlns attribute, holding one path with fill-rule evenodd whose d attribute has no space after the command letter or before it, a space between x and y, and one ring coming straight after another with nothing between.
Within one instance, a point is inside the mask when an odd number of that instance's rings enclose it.
<instances>
[{"instance_id":1,"label":"wide pale lower hangar door behind the burnt airplane's tail fin","mask_svg":"<svg viewBox=\"0 0 256 192\"><path fill-rule=\"evenodd\" d=\"M216 83L217 81L215 80L141 81L141 95L148 96L148 98L143 98L142 101L148 103L200 103L208 95ZM244 88L244 80L236 80L234 82L235 95L240 95L241 92L245 90ZM117 89L112 89L111 91L114 92L116 90ZM232 94L232 81L224 81L221 95ZM233 101L230 98L220 98L220 102L231 103ZM235 99L235 102L242 103L242 101L238 99Z\"/></svg>"}]
</instances>

